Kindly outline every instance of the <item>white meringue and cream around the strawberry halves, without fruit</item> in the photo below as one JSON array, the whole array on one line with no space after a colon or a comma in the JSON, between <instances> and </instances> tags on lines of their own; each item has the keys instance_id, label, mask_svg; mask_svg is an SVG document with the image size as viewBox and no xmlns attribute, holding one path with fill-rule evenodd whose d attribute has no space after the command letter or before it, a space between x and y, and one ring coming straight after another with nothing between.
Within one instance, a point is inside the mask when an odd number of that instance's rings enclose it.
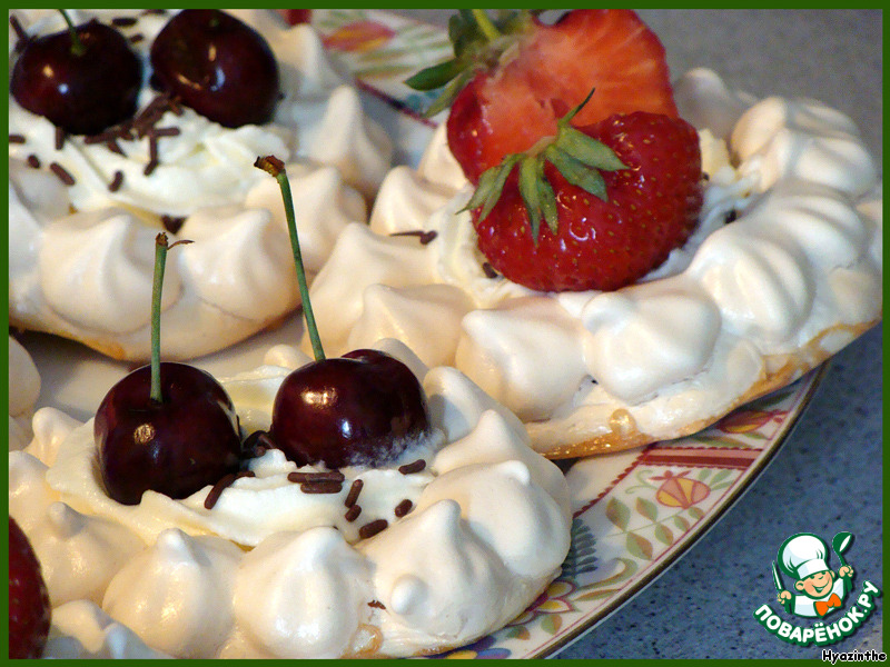
<instances>
[{"instance_id":1,"label":"white meringue and cream around the strawberry halves, without fruit","mask_svg":"<svg viewBox=\"0 0 890 667\"><path fill-rule=\"evenodd\" d=\"M439 128L315 280L326 345L399 338L457 366L554 452L698 430L877 321L882 187L851 121L810 100L752 100L708 70L675 94L700 132L704 206L692 238L642 281L551 295L490 277ZM394 236L406 231L427 242ZM447 298L427 298L433 286Z\"/></svg>"}]
</instances>

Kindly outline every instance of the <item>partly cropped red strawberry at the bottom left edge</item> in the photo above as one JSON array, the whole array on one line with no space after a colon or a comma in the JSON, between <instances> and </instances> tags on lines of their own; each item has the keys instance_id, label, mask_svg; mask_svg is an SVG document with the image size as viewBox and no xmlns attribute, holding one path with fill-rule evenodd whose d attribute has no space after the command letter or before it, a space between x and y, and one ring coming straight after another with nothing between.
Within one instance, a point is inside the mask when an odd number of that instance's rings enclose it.
<instances>
[{"instance_id":1,"label":"partly cropped red strawberry at the bottom left edge","mask_svg":"<svg viewBox=\"0 0 890 667\"><path fill-rule=\"evenodd\" d=\"M40 563L9 518L9 657L39 658L49 635L50 606Z\"/></svg>"}]
</instances>

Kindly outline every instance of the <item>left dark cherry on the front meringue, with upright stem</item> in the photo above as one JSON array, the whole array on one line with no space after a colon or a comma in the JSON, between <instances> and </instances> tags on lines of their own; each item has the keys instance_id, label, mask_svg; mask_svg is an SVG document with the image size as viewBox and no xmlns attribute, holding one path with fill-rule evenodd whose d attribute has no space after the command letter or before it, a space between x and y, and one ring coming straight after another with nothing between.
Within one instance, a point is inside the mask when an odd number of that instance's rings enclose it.
<instances>
[{"instance_id":1,"label":"left dark cherry on the front meringue, with upright stem","mask_svg":"<svg viewBox=\"0 0 890 667\"><path fill-rule=\"evenodd\" d=\"M108 495L138 505L149 489L186 498L238 471L235 407L209 374L160 365L162 402L150 398L151 368L134 370L106 395L93 436Z\"/></svg>"}]
</instances>

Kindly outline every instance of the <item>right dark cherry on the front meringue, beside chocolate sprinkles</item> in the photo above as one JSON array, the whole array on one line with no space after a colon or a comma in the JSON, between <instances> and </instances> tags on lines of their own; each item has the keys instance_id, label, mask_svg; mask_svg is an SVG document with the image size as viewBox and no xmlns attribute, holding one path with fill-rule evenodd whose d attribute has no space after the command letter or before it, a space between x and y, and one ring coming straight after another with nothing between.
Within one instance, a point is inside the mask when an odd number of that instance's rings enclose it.
<instances>
[{"instance_id":1,"label":"right dark cherry on the front meringue, beside chocolate sprinkles","mask_svg":"<svg viewBox=\"0 0 890 667\"><path fill-rule=\"evenodd\" d=\"M298 465L382 466L428 431L417 378L377 350L298 368L285 378L273 408L273 439Z\"/></svg>"}]
</instances>

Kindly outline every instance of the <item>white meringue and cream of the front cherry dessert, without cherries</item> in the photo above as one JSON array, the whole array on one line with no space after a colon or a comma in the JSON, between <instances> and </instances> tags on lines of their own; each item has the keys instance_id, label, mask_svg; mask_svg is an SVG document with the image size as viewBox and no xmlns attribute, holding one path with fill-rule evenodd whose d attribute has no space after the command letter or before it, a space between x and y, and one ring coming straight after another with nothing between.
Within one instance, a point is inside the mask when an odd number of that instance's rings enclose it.
<instances>
[{"instance_id":1,"label":"white meringue and cream of the front cherry dessert, without cherries","mask_svg":"<svg viewBox=\"0 0 890 667\"><path fill-rule=\"evenodd\" d=\"M342 469L324 494L304 487L324 469L270 449L221 492L122 506L102 489L91 421L38 410L33 441L10 454L10 514L60 617L49 655L409 656L531 604L568 550L562 472L466 376L395 340L378 347L422 381L434 435L389 467ZM245 431L268 427L289 371L276 364L304 360L273 349L222 380Z\"/></svg>"}]
</instances>

